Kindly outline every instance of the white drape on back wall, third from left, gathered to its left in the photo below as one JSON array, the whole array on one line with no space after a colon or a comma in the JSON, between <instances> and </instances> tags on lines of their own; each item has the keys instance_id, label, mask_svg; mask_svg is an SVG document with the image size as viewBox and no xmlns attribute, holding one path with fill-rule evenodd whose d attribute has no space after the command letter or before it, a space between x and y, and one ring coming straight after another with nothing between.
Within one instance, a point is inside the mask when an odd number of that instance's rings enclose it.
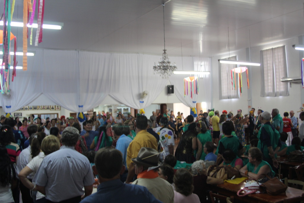
<instances>
[{"instance_id":1,"label":"white drape on back wall, third from left, gathered to its left","mask_svg":"<svg viewBox=\"0 0 304 203\"><path fill-rule=\"evenodd\" d=\"M109 94L111 54L79 52L79 106L78 112L98 106Z\"/></svg>"}]
</instances>

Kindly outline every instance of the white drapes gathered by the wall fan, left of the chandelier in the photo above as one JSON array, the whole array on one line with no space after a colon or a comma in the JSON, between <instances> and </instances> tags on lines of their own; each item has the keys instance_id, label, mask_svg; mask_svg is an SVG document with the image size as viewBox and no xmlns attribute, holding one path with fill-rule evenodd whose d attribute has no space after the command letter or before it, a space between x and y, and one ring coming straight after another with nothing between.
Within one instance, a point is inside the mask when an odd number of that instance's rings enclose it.
<instances>
[{"instance_id":1,"label":"white drapes gathered by the wall fan, left of the chandelier","mask_svg":"<svg viewBox=\"0 0 304 203\"><path fill-rule=\"evenodd\" d=\"M166 79L155 74L154 62L159 56L145 54L112 54L110 96L134 109L149 106L167 84ZM146 91L147 96L142 98Z\"/></svg>"}]
</instances>

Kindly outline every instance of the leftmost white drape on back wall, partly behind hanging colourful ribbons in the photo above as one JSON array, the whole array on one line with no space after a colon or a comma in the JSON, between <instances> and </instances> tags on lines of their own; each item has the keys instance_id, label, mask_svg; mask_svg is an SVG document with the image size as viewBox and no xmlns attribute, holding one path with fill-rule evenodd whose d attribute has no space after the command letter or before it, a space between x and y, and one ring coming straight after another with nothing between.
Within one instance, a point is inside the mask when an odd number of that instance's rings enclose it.
<instances>
[{"instance_id":1,"label":"leftmost white drape on back wall, partly behind hanging colourful ribbons","mask_svg":"<svg viewBox=\"0 0 304 203\"><path fill-rule=\"evenodd\" d=\"M17 61L22 64L22 58L18 57ZM19 110L35 100L41 93L41 73L42 51L37 50L35 56L27 57L27 71L16 70L16 77L12 82L10 77L9 94L1 94L0 100L5 113L12 113ZM12 69L10 69L12 74Z\"/></svg>"}]
</instances>

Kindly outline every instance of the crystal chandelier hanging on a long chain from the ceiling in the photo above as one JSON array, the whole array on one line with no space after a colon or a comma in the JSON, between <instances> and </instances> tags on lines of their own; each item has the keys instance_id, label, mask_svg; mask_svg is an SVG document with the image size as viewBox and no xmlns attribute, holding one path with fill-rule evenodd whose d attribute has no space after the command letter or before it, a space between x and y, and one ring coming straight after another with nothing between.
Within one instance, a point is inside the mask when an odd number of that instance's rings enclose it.
<instances>
[{"instance_id":1,"label":"crystal chandelier hanging on a long chain from the ceiling","mask_svg":"<svg viewBox=\"0 0 304 203\"><path fill-rule=\"evenodd\" d=\"M161 61L158 62L158 64L156 65L156 63L154 63L154 66L153 66L153 70L154 70L154 74L155 72L159 75L161 75L161 77L163 79L168 79L169 76L171 74L173 74L173 71L175 71L177 68L176 68L176 65L175 63L172 64L168 58L168 54L166 53L166 44L165 44L165 11L164 11L164 6L165 4L163 4L163 16L164 16L164 53L163 53L163 56L161 58Z\"/></svg>"}]
</instances>

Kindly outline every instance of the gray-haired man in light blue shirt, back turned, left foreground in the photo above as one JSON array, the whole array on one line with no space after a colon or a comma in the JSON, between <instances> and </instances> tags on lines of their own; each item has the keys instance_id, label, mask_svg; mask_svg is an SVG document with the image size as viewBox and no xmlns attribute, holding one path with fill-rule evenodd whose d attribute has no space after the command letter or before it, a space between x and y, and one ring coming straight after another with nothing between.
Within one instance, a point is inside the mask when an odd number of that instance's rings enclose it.
<instances>
[{"instance_id":1,"label":"gray-haired man in light blue shirt, back turned, left foreground","mask_svg":"<svg viewBox=\"0 0 304 203\"><path fill-rule=\"evenodd\" d=\"M32 190L44 194L47 203L80 202L93 191L95 180L91 164L74 149L78 138L76 128L65 128L61 136L63 146L43 159L33 179L35 187Z\"/></svg>"}]
</instances>

